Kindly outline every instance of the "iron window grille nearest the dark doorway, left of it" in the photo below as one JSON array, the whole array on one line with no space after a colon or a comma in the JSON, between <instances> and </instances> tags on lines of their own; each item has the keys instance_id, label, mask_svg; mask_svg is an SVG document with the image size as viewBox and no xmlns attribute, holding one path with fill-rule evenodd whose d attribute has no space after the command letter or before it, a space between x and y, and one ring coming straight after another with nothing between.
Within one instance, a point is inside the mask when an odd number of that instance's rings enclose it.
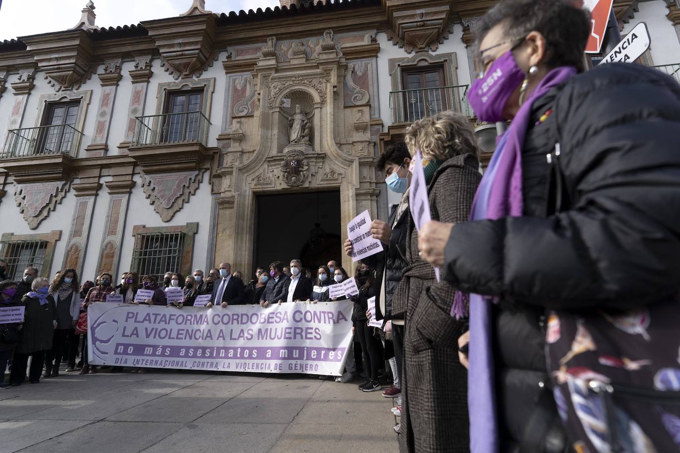
<instances>
[{"instance_id":1,"label":"iron window grille nearest the dark doorway, left of it","mask_svg":"<svg viewBox=\"0 0 680 453\"><path fill-rule=\"evenodd\" d=\"M163 282L165 272L180 272L184 233L139 233L135 235L132 268L139 276L154 275Z\"/></svg>"}]
</instances>

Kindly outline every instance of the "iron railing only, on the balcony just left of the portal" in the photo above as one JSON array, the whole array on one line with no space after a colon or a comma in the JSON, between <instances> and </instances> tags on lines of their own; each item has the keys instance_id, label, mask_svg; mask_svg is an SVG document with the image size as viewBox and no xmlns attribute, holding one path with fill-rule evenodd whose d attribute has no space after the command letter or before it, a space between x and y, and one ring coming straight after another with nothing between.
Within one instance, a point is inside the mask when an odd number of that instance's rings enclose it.
<instances>
[{"instance_id":1,"label":"iron railing only, on the balcony just left of the portal","mask_svg":"<svg viewBox=\"0 0 680 453\"><path fill-rule=\"evenodd\" d=\"M138 116L133 147L202 143L207 146L210 122L200 111Z\"/></svg>"}]
</instances>

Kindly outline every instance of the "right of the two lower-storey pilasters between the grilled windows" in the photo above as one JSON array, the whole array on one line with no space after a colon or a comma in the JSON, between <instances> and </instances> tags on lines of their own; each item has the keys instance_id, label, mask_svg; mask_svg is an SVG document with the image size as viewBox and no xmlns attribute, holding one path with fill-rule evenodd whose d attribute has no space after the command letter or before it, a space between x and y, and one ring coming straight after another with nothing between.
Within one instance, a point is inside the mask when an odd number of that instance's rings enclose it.
<instances>
[{"instance_id":1,"label":"right of the two lower-storey pilasters between the grilled windows","mask_svg":"<svg viewBox=\"0 0 680 453\"><path fill-rule=\"evenodd\" d=\"M101 235L101 249L97 262L97 274L112 272L118 275L120 268L120 249L125 231L125 220L130 191L135 186L132 179L133 166L112 168L114 179L105 183L109 190L109 206L106 222Z\"/></svg>"}]
</instances>

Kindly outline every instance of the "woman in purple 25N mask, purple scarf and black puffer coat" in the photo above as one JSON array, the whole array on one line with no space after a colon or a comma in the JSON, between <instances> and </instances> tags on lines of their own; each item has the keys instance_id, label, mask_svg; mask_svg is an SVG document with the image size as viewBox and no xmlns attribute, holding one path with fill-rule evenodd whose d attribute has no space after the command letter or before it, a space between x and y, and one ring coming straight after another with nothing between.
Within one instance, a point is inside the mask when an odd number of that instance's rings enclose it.
<instances>
[{"instance_id":1,"label":"woman in purple 25N mask, purple scarf and black puffer coat","mask_svg":"<svg viewBox=\"0 0 680 453\"><path fill-rule=\"evenodd\" d=\"M477 34L469 101L511 125L471 221L418 244L470 294L471 450L677 451L680 86L583 72L590 20L564 0L502 1Z\"/></svg>"}]
</instances>

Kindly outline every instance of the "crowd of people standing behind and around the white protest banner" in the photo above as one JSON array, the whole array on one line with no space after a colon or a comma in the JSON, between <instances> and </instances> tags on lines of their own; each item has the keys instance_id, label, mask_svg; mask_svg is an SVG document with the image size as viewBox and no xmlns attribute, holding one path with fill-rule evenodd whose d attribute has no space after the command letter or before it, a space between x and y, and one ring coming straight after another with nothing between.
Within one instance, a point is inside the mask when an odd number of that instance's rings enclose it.
<instances>
[{"instance_id":1,"label":"crowd of people standing behind and around the white protest banner","mask_svg":"<svg viewBox=\"0 0 680 453\"><path fill-rule=\"evenodd\" d=\"M7 261L0 259L0 276L7 269ZM230 305L257 304L263 308L271 304L288 302L335 302L345 300L347 296L330 297L330 285L343 283L350 274L337 264L319 266L316 273L309 268L303 268L299 259L292 259L289 266L282 261L274 261L269 270L258 267L254 278L243 283L243 273L233 272L231 264L222 263L219 268L211 269L207 276L203 270L194 270L193 274L184 278L177 272L166 272L163 282L156 281L156 276L146 275L140 280L137 272L123 272L120 283L114 286L113 276L104 272L95 278L87 280L82 285L78 273L74 269L60 270L50 283L47 278L37 277L38 270L29 267L18 282L3 280L0 282L0 294L3 306L24 306L24 322L8 323L3 327L3 341L0 343L0 369L4 376L7 365L11 362L9 383L1 382L0 388L19 386L27 378L26 369L29 357L29 382L35 384L42 378L56 378L59 376L61 364L65 364L66 372L80 368L80 374L96 374L97 367L88 363L86 325L83 327L88 307L98 302L107 302L108 295L122 295L125 304L147 304L160 306L174 306L183 308L193 306L199 295L209 294L210 302L205 307ZM354 302L352 316L352 331L356 329L358 348L362 351L358 355L358 365L363 365L365 371L358 369L354 361L354 342L347 351L345 372L335 378L336 382L348 383L360 376L366 380L360 384L362 391L379 391L382 386L379 381L379 370L383 382L393 382L396 368L386 371L383 363L382 350L384 338L371 336L373 333L365 325L367 322L368 299L377 293L375 274L367 264L361 264L353 274L356 278L359 293L350 296ZM205 278L204 278L205 277ZM184 292L182 300L168 303L166 289L180 288ZM139 302L135 300L137 291L146 289L152 291L150 298ZM143 296L144 297L144 296ZM7 339L5 341L5 333ZM76 363L79 356L80 362ZM394 360L392 360L394 366ZM126 368L113 366L111 372L122 372ZM44 374L43 374L44 370ZM132 367L130 372L144 372L145 369ZM391 372L391 374L390 374ZM326 379L328 376L319 376ZM398 381L390 385L384 392L386 397L396 397Z\"/></svg>"}]
</instances>

